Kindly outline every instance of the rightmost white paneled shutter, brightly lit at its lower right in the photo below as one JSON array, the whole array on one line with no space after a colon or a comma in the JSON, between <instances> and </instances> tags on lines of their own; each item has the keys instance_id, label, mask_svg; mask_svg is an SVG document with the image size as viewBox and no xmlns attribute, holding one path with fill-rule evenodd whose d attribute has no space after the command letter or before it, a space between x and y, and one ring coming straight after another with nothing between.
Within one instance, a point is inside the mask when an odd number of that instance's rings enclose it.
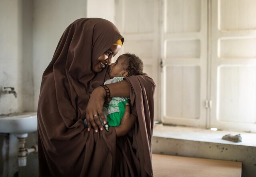
<instances>
[{"instance_id":1,"label":"rightmost white paneled shutter, brightly lit at its lower right","mask_svg":"<svg viewBox=\"0 0 256 177\"><path fill-rule=\"evenodd\" d=\"M256 131L256 1L211 1L210 125Z\"/></svg>"}]
</instances>

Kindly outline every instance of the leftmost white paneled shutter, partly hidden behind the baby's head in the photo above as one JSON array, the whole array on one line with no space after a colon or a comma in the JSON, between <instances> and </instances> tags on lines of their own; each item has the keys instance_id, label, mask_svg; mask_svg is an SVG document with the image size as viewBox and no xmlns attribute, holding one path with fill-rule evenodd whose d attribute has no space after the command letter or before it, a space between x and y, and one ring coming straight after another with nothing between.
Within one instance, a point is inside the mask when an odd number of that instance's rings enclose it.
<instances>
[{"instance_id":1,"label":"leftmost white paneled shutter, partly hidden behind the baby's head","mask_svg":"<svg viewBox=\"0 0 256 177\"><path fill-rule=\"evenodd\" d=\"M116 0L116 25L125 41L119 53L129 52L139 56L144 63L144 72L156 82L155 120L160 120L159 9L158 0Z\"/></svg>"}]
</instances>

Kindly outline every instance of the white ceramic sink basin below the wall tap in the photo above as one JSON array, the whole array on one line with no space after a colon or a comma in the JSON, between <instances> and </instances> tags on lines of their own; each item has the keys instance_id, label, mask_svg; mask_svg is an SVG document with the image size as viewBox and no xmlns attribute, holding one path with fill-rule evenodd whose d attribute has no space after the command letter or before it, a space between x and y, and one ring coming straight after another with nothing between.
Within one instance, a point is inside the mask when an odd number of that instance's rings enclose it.
<instances>
[{"instance_id":1,"label":"white ceramic sink basin below the wall tap","mask_svg":"<svg viewBox=\"0 0 256 177\"><path fill-rule=\"evenodd\" d=\"M0 116L0 133L30 133L37 131L37 113L25 112Z\"/></svg>"}]
</instances>

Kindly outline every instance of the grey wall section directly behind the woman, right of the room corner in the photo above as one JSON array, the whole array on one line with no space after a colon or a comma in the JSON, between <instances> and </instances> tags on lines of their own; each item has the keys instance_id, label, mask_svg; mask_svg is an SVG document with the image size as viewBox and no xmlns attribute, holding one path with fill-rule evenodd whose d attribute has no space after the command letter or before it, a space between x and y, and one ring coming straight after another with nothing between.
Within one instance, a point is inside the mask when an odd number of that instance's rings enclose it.
<instances>
[{"instance_id":1,"label":"grey wall section directly behind the woman, right of the room corner","mask_svg":"<svg viewBox=\"0 0 256 177\"><path fill-rule=\"evenodd\" d=\"M86 0L34 0L34 110L37 109L42 74L52 60L62 33L74 20L83 17L86 17Z\"/></svg>"}]
</instances>

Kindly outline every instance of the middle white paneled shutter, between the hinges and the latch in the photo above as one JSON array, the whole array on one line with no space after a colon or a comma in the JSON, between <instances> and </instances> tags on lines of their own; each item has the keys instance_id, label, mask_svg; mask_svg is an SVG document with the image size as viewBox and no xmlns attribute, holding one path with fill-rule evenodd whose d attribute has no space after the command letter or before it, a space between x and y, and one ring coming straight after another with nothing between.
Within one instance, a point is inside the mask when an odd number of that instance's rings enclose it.
<instances>
[{"instance_id":1,"label":"middle white paneled shutter, between the hinges and the latch","mask_svg":"<svg viewBox=\"0 0 256 177\"><path fill-rule=\"evenodd\" d=\"M206 126L207 0L164 0L164 123Z\"/></svg>"}]
</instances>

